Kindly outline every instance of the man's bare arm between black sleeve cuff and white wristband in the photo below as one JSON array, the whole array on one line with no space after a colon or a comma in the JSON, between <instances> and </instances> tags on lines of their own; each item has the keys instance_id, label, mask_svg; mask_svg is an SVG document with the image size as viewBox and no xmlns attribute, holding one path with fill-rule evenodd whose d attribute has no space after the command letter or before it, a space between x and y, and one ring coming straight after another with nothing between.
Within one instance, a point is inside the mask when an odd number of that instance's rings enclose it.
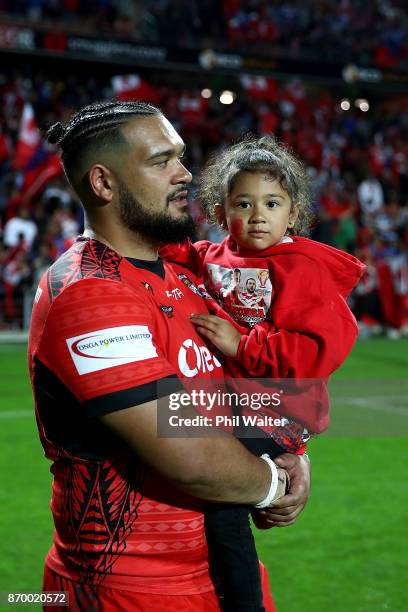
<instances>
[{"instance_id":1,"label":"man's bare arm between black sleeve cuff and white wristband","mask_svg":"<svg viewBox=\"0 0 408 612\"><path fill-rule=\"evenodd\" d=\"M197 413L185 408L179 416ZM185 428L186 437L157 437L157 403L147 402L101 417L102 423L122 438L148 465L180 490L210 501L256 504L271 484L271 470L232 435L206 428ZM189 437L189 435L194 437Z\"/></svg>"}]
</instances>

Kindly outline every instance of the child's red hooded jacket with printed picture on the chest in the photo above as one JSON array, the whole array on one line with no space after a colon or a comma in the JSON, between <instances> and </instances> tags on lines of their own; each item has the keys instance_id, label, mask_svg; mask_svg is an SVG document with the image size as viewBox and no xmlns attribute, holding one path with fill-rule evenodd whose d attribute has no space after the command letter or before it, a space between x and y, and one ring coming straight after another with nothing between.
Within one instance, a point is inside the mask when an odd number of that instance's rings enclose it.
<instances>
[{"instance_id":1,"label":"child's red hooded jacket with printed picture on the chest","mask_svg":"<svg viewBox=\"0 0 408 612\"><path fill-rule=\"evenodd\" d=\"M231 237L161 252L202 275L208 292L243 333L236 358L226 360L232 378L327 379L356 341L357 323L346 299L364 265L308 238L286 240L258 252L241 249ZM214 314L228 318L218 305ZM306 413L302 404L290 415L313 432L328 427L327 400Z\"/></svg>"}]
</instances>

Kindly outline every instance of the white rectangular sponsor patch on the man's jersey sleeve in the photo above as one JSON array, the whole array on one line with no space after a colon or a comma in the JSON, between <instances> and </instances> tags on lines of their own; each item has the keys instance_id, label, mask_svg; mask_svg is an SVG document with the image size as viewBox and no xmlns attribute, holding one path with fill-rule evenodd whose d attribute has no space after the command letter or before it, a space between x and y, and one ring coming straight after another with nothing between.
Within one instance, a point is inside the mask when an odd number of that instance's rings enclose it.
<instances>
[{"instance_id":1,"label":"white rectangular sponsor patch on the man's jersey sleeve","mask_svg":"<svg viewBox=\"0 0 408 612\"><path fill-rule=\"evenodd\" d=\"M78 374L157 357L147 325L122 325L67 338Z\"/></svg>"}]
</instances>

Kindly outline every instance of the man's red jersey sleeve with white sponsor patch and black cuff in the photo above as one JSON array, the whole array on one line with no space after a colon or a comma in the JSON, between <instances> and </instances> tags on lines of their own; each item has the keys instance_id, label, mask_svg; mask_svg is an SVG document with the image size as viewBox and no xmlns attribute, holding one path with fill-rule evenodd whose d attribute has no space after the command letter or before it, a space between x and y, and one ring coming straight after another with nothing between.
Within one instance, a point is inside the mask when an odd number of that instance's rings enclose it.
<instances>
[{"instance_id":1,"label":"man's red jersey sleeve with white sponsor patch and black cuff","mask_svg":"<svg viewBox=\"0 0 408 612\"><path fill-rule=\"evenodd\" d=\"M52 303L37 358L89 416L157 398L157 381L173 377L163 345L166 330L140 296L122 283L83 279Z\"/></svg>"}]
</instances>

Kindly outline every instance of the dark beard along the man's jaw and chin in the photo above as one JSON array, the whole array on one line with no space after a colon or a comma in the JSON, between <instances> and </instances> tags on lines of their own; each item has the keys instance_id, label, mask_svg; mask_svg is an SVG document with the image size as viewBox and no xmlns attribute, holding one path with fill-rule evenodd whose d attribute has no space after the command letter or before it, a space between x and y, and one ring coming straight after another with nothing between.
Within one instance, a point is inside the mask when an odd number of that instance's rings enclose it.
<instances>
[{"instance_id":1,"label":"dark beard along the man's jaw and chin","mask_svg":"<svg viewBox=\"0 0 408 612\"><path fill-rule=\"evenodd\" d=\"M179 189L178 191L181 191ZM167 200L169 206L170 198ZM194 240L196 228L194 219L187 212L176 219L165 210L152 213L131 194L125 183L119 183L119 211L125 227L142 234L158 244L176 243L190 238Z\"/></svg>"}]
</instances>

